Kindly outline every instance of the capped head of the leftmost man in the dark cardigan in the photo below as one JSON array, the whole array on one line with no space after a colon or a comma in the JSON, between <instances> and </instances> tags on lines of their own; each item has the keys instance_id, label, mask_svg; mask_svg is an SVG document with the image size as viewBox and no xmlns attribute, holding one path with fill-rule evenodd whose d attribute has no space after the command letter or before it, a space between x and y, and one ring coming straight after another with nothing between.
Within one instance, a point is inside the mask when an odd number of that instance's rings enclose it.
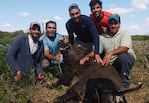
<instances>
[{"instance_id":1,"label":"capped head of the leftmost man in the dark cardigan","mask_svg":"<svg viewBox=\"0 0 149 103\"><path fill-rule=\"evenodd\" d=\"M29 32L30 32L32 39L36 41L41 34L40 24L38 22L31 22Z\"/></svg>"}]
</instances>

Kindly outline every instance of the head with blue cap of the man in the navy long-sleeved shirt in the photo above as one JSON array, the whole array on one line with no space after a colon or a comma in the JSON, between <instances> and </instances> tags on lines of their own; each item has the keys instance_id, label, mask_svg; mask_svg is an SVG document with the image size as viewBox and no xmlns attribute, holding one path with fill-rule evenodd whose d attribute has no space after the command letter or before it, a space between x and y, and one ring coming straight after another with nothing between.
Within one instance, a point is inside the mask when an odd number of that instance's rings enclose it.
<instances>
[{"instance_id":1,"label":"head with blue cap of the man in the navy long-sleeved shirt","mask_svg":"<svg viewBox=\"0 0 149 103\"><path fill-rule=\"evenodd\" d=\"M69 15L74 22L80 21L81 11L77 4L71 4L69 6Z\"/></svg>"}]
</instances>

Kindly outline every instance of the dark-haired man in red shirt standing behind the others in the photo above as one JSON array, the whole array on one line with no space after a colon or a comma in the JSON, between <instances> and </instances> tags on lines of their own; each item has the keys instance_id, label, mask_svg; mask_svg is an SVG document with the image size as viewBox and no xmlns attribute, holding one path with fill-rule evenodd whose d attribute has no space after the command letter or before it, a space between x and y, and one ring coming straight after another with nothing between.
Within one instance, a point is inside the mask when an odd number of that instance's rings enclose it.
<instances>
[{"instance_id":1,"label":"dark-haired man in red shirt standing behind the others","mask_svg":"<svg viewBox=\"0 0 149 103\"><path fill-rule=\"evenodd\" d=\"M90 18L93 20L99 34L107 32L108 17L112 14L107 11L102 11L102 1L91 0L89 3L91 14Z\"/></svg>"}]
</instances>

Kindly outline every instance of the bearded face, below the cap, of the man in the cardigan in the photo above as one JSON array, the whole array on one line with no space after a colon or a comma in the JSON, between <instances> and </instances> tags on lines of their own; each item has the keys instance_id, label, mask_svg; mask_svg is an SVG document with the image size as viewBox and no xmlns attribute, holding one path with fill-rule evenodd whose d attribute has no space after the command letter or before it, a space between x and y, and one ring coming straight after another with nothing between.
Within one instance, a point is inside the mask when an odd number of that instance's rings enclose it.
<instances>
[{"instance_id":1,"label":"bearded face, below the cap, of the man in the cardigan","mask_svg":"<svg viewBox=\"0 0 149 103\"><path fill-rule=\"evenodd\" d=\"M40 34L40 28L30 28L30 35L34 40L37 40L40 37Z\"/></svg>"}]
</instances>

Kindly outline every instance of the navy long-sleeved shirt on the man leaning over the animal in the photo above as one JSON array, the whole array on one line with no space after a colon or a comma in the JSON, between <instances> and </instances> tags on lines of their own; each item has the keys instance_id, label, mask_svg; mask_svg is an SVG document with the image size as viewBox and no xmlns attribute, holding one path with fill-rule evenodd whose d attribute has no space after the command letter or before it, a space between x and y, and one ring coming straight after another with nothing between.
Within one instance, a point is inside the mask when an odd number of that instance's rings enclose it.
<instances>
[{"instance_id":1,"label":"navy long-sleeved shirt on the man leaning over the animal","mask_svg":"<svg viewBox=\"0 0 149 103\"><path fill-rule=\"evenodd\" d=\"M74 44L74 33L77 36L76 39L84 43L94 43L95 53L99 53L99 33L93 23L93 21L85 15L81 15L80 22L74 22L69 19L66 22L66 29L69 35L69 42Z\"/></svg>"}]
</instances>

